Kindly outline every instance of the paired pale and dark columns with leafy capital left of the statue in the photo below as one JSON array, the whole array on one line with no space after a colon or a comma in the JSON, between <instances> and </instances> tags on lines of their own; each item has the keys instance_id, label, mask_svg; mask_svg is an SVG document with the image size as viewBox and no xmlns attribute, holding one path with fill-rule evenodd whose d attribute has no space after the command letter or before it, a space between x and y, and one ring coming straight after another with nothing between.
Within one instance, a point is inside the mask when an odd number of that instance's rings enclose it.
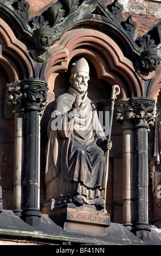
<instances>
[{"instance_id":1,"label":"paired pale and dark columns with leafy capital left of the statue","mask_svg":"<svg viewBox=\"0 0 161 256\"><path fill-rule=\"evenodd\" d=\"M8 103L15 104L15 211L23 210L24 220L38 226L41 217L40 112L47 99L47 83L28 79L8 84L7 88Z\"/></svg>"}]
</instances>

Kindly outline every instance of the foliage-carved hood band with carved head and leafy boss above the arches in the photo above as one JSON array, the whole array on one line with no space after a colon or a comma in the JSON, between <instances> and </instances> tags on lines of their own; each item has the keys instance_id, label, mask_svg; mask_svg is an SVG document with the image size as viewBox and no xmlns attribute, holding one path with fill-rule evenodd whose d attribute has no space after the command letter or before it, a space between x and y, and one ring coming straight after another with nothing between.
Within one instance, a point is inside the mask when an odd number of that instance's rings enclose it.
<instances>
[{"instance_id":1,"label":"foliage-carved hood band with carved head and leafy boss above the arches","mask_svg":"<svg viewBox=\"0 0 161 256\"><path fill-rule=\"evenodd\" d=\"M1 8L9 15L12 14L18 26L21 26L23 36L27 35L34 42L35 48L30 51L30 56L36 62L45 62L50 57L50 45L59 40L70 28L88 21L89 14L99 14L100 19L102 16L103 20L106 20L107 26L121 34L123 42L126 41L126 45L129 46L129 49L125 47L125 51L128 51L129 56L139 59L137 65L140 69L151 71L160 65L156 45L149 35L134 41L137 23L131 16L124 21L121 14L124 8L118 0L108 5L105 0L59 0L32 20L29 20L29 3L26 0L0 0L0 10Z\"/></svg>"}]
</instances>

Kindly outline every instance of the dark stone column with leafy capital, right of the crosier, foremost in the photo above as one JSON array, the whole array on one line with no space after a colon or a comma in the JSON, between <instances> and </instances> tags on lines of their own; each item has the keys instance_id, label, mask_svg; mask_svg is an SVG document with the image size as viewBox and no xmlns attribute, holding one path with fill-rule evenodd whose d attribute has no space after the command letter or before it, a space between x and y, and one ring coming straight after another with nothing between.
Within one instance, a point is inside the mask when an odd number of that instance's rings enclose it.
<instances>
[{"instance_id":1,"label":"dark stone column with leafy capital, right of the crosier, foremost","mask_svg":"<svg viewBox=\"0 0 161 256\"><path fill-rule=\"evenodd\" d=\"M124 101L123 101L124 102ZM132 231L142 240L149 238L147 198L147 132L154 122L154 100L147 97L134 97L126 100L126 114L122 114L117 103L118 120L132 120L134 129L134 169L136 181L136 216Z\"/></svg>"}]
</instances>

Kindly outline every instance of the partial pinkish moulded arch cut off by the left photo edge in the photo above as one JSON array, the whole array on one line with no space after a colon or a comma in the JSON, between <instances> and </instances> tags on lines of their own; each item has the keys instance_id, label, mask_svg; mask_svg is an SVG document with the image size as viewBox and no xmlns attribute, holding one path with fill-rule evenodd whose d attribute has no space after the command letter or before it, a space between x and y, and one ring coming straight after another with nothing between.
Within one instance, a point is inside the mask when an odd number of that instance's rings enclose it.
<instances>
[{"instance_id":1,"label":"partial pinkish moulded arch cut off by the left photo edge","mask_svg":"<svg viewBox=\"0 0 161 256\"><path fill-rule=\"evenodd\" d=\"M22 74L23 77L34 76L34 65L28 56L27 47L15 37L12 27L9 27L2 18L0 34L3 50L0 63L7 71L9 82L22 79Z\"/></svg>"}]
</instances>

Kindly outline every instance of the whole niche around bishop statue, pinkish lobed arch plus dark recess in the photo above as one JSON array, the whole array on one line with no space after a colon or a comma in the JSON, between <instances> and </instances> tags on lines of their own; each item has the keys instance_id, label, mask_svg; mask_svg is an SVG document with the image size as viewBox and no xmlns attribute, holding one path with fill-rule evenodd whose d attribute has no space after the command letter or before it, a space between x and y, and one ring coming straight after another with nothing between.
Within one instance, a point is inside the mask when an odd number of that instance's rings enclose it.
<instances>
[{"instance_id":1,"label":"whole niche around bishop statue, pinkish lobed arch plus dark recess","mask_svg":"<svg viewBox=\"0 0 161 256\"><path fill-rule=\"evenodd\" d=\"M41 119L41 202L45 199L46 188L44 184L44 167L46 163L45 149L47 145L47 124L53 111L54 100L57 96L67 92L69 87L70 65L77 58L87 59L90 68L88 81L88 96L94 101L98 110L110 110L111 89L118 84L121 93L119 99L143 96L141 78L136 74L132 62L121 52L118 44L110 36L94 29L73 29L50 47L50 60L41 70L41 78L48 82L48 105ZM115 113L114 113L115 116ZM111 151L109 179L107 188L108 212L112 220L123 221L121 204L122 195L122 170L123 163L123 135L121 125L114 118L112 127L113 149ZM119 147L118 147L119 145ZM114 166L114 167L113 167ZM113 171L114 175L112 174ZM113 190L114 180L119 177L119 189ZM116 192L117 191L117 192ZM112 212L113 194L117 194L119 220L115 219ZM119 208L120 207L120 208Z\"/></svg>"}]
</instances>

